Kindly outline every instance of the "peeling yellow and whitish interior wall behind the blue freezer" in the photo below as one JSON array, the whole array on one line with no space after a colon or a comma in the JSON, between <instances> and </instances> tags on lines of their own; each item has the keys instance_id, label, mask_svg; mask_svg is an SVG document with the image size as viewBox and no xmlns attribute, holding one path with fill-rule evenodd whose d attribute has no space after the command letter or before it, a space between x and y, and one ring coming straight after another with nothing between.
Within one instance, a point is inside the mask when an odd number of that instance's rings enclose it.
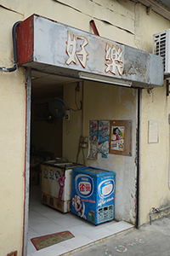
<instances>
[{"instance_id":1,"label":"peeling yellow and whitish interior wall behind the blue freezer","mask_svg":"<svg viewBox=\"0 0 170 256\"><path fill-rule=\"evenodd\" d=\"M82 87L82 86L81 86ZM82 93L80 92L80 95ZM88 150L84 150L86 165L116 172L116 202L115 218L135 224L136 217L136 125L137 125L137 90L84 81L83 83L83 113L71 112L70 132L68 121L64 120L63 154L71 161L77 157L78 140L81 134L89 137L90 120L133 120L132 156L108 154L107 159L98 154L98 160L88 160ZM72 108L75 102L75 85L65 85L64 101L67 108ZM82 126L83 114L83 126ZM83 129L82 129L83 128ZM82 131L83 130L83 131ZM70 145L70 147L68 147ZM82 153L80 153L80 163Z\"/></svg>"}]
</instances>

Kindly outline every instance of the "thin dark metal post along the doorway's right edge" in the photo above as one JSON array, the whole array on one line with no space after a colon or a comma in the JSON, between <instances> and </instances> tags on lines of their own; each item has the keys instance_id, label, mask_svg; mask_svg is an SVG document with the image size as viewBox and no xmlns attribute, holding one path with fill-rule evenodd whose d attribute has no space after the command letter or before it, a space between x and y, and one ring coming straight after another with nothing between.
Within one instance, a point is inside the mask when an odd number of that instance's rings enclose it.
<instances>
[{"instance_id":1,"label":"thin dark metal post along the doorway's right edge","mask_svg":"<svg viewBox=\"0 0 170 256\"><path fill-rule=\"evenodd\" d=\"M136 228L140 226L140 138L141 138L141 97L142 90L138 90L138 132L137 132L137 219Z\"/></svg>"}]
</instances>

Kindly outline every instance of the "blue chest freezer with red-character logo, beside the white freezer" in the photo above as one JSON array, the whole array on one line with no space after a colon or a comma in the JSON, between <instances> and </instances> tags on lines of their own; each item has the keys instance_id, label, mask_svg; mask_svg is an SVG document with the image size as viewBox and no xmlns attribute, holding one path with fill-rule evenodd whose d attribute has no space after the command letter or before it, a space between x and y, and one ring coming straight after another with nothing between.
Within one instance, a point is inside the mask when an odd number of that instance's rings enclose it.
<instances>
[{"instance_id":1,"label":"blue chest freezer with red-character logo, beside the white freezer","mask_svg":"<svg viewBox=\"0 0 170 256\"><path fill-rule=\"evenodd\" d=\"M71 212L93 224L113 219L115 178L115 172L99 168L73 168Z\"/></svg>"}]
</instances>

